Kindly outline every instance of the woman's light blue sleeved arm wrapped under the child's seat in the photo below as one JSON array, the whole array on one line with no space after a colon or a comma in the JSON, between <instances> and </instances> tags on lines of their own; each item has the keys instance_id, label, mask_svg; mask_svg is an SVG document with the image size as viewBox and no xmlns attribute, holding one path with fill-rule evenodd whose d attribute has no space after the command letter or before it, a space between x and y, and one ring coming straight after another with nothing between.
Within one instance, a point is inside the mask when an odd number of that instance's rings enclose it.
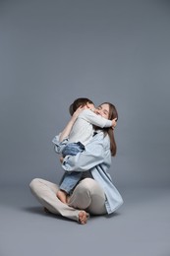
<instances>
[{"instance_id":1,"label":"woman's light blue sleeved arm wrapped under the child's seat","mask_svg":"<svg viewBox=\"0 0 170 256\"><path fill-rule=\"evenodd\" d=\"M85 146L85 151L77 156L67 156L62 163L66 171L86 171L92 167L105 163L111 164L110 142L103 132L97 133Z\"/></svg>"}]
</instances>

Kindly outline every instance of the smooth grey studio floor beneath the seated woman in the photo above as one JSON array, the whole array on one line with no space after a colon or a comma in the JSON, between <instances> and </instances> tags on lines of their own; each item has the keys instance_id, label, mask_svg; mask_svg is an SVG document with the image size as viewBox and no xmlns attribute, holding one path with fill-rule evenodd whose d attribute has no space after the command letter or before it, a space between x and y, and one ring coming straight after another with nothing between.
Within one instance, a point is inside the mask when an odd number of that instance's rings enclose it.
<instances>
[{"instance_id":1,"label":"smooth grey studio floor beneath the seated woman","mask_svg":"<svg viewBox=\"0 0 170 256\"><path fill-rule=\"evenodd\" d=\"M109 218L81 225L47 215L28 187L0 189L0 256L170 256L170 189L122 188Z\"/></svg>"}]
</instances>

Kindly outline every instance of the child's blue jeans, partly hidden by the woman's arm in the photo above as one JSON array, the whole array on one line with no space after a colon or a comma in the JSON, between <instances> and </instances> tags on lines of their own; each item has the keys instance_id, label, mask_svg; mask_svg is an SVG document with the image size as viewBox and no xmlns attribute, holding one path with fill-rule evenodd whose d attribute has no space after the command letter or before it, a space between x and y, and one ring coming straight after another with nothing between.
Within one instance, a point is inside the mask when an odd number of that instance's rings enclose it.
<instances>
[{"instance_id":1,"label":"child's blue jeans, partly hidden by the woman's arm","mask_svg":"<svg viewBox=\"0 0 170 256\"><path fill-rule=\"evenodd\" d=\"M78 153L83 152L85 150L85 146L81 143L69 143L63 150L62 155L66 157L76 156ZM70 194L77 183L81 180L82 172L79 171L71 171L66 172L63 176L63 179L60 183L60 189Z\"/></svg>"}]
</instances>

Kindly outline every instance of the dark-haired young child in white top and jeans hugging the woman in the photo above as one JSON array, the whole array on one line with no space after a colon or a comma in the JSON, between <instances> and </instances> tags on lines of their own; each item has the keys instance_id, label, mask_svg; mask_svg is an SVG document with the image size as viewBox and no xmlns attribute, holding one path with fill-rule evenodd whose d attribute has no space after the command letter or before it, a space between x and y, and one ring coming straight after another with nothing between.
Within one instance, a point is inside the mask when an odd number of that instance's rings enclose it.
<instances>
[{"instance_id":1,"label":"dark-haired young child in white top and jeans hugging the woman","mask_svg":"<svg viewBox=\"0 0 170 256\"><path fill-rule=\"evenodd\" d=\"M55 151L62 153L63 158L66 156L76 156L78 153L85 151L85 145L93 136L93 125L103 127L114 127L116 120L108 120L100 115L95 114L93 102L85 97L77 98L70 105L71 120L58 136L55 136L53 143ZM69 137L69 138L68 138ZM60 142L58 144L58 141ZM68 143L69 142L69 143ZM67 203L67 195L69 195L82 177L82 172L72 171L64 174L60 184L60 190L57 197Z\"/></svg>"}]
</instances>

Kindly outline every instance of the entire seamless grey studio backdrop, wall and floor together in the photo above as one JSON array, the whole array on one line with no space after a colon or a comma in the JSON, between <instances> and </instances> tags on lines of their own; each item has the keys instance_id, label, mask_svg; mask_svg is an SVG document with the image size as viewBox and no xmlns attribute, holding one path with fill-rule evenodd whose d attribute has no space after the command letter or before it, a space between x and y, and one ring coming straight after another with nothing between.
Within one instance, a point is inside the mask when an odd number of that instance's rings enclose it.
<instances>
[{"instance_id":1,"label":"entire seamless grey studio backdrop, wall and floor together","mask_svg":"<svg viewBox=\"0 0 170 256\"><path fill-rule=\"evenodd\" d=\"M169 71L167 0L0 1L0 256L170 255ZM28 191L59 181L51 140L79 96L118 108L110 174L125 201L85 226Z\"/></svg>"}]
</instances>

